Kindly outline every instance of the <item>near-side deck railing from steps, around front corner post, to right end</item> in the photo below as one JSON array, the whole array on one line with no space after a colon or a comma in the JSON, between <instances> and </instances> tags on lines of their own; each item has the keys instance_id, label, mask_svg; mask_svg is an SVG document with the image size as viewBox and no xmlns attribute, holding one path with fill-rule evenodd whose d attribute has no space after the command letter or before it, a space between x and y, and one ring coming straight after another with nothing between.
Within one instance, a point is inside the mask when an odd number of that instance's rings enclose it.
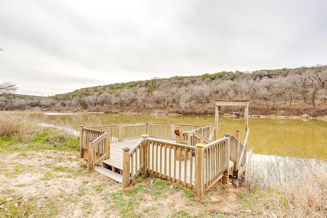
<instances>
[{"instance_id":1,"label":"near-side deck railing from steps, around front corner post, to right end","mask_svg":"<svg viewBox=\"0 0 327 218\"><path fill-rule=\"evenodd\" d=\"M144 136L131 150L124 150L128 156L124 155L123 165L128 171L123 173L123 187L128 187L138 176L154 176L189 187L201 196L217 181L229 182L229 169L237 172L230 163L238 165L236 151L241 153L243 148L231 134L196 146ZM180 158L181 153L184 158Z\"/></svg>"}]
</instances>

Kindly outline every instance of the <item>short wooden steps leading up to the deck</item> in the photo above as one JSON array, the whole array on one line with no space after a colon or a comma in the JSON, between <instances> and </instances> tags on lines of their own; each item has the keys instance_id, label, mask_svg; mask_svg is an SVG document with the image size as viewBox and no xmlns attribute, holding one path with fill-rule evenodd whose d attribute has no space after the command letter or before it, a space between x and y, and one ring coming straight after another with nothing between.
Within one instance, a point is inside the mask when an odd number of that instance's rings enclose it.
<instances>
[{"instance_id":1,"label":"short wooden steps leading up to the deck","mask_svg":"<svg viewBox=\"0 0 327 218\"><path fill-rule=\"evenodd\" d=\"M103 166L97 166L95 171L109 177L116 182L123 182L123 163L113 159L103 160L102 163L107 168Z\"/></svg>"}]
</instances>

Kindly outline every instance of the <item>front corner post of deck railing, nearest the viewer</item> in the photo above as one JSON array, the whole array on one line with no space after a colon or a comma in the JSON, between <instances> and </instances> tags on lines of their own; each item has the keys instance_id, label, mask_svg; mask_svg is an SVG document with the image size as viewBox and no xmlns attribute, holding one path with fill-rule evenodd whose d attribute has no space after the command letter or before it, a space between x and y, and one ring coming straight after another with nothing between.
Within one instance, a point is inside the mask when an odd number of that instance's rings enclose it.
<instances>
[{"instance_id":1,"label":"front corner post of deck railing, nearest the viewer","mask_svg":"<svg viewBox=\"0 0 327 218\"><path fill-rule=\"evenodd\" d=\"M204 144L198 143L196 147L196 195L202 197L204 192Z\"/></svg>"}]
</instances>

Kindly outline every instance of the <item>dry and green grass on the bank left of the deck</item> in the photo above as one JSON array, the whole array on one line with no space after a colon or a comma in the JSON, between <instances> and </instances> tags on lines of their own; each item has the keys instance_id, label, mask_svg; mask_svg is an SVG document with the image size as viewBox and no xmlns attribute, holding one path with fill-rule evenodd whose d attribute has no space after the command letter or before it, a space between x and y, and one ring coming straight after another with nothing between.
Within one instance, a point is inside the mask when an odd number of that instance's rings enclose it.
<instances>
[{"instance_id":1,"label":"dry and green grass on the bank left of the deck","mask_svg":"<svg viewBox=\"0 0 327 218\"><path fill-rule=\"evenodd\" d=\"M40 126L43 113L1 112L0 151L77 150L78 137L54 127Z\"/></svg>"}]
</instances>

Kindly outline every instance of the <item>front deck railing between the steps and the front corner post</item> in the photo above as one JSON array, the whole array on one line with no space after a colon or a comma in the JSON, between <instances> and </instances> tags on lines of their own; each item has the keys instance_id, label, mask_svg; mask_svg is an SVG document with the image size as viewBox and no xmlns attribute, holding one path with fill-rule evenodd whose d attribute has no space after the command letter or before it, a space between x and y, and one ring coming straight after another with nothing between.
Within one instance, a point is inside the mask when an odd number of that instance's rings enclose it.
<instances>
[{"instance_id":1,"label":"front deck railing between the steps and the front corner post","mask_svg":"<svg viewBox=\"0 0 327 218\"><path fill-rule=\"evenodd\" d=\"M129 150L129 158L123 159L123 166L129 165L129 172L123 173L123 187L128 187L135 177L159 177L195 189L196 147L167 142L144 136ZM124 153L126 150L124 150ZM185 152L189 162L177 158ZM125 157L125 156L123 156ZM125 178L124 178L125 175Z\"/></svg>"}]
</instances>

